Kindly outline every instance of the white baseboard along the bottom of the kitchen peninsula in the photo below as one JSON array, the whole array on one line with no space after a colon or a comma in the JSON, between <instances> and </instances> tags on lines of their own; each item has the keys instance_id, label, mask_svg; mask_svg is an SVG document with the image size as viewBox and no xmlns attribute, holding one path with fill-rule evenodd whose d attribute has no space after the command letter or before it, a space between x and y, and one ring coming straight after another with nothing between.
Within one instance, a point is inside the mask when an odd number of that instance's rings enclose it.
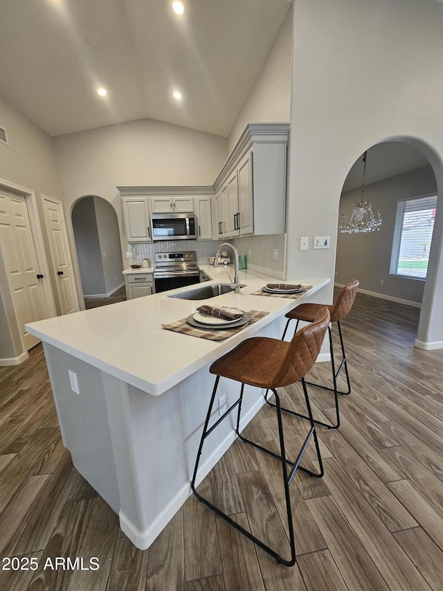
<instances>
[{"instance_id":1,"label":"white baseboard along the bottom of the kitchen peninsula","mask_svg":"<svg viewBox=\"0 0 443 591\"><path fill-rule=\"evenodd\" d=\"M252 418L255 416L255 414L257 414L264 404L265 402L263 396L263 398L259 398L257 402L251 407L251 409L249 409L248 413L245 414L240 424L240 430L243 430L244 427L246 427L249 421L252 420ZM225 439L221 441L217 449L214 450L214 452L210 455L210 457L208 457L204 464L200 466L197 473L197 486L210 473L210 470L214 468L215 464L217 464L224 453L228 451L235 439L235 431L231 431L228 436L226 436ZM183 506L191 494L191 484L190 481L188 481L181 487L177 495L175 495L174 498L172 498L172 500L163 508L159 515L156 516L156 518L150 523L145 531L140 531L137 529L120 509L118 516L120 518L120 527L123 533L125 533L129 540L131 540L134 546L141 550L146 550L150 547L150 545L152 545L161 531L165 529L166 525L170 522L170 520L172 520L174 515L177 513L177 511L179 511L180 507Z\"/></svg>"}]
</instances>

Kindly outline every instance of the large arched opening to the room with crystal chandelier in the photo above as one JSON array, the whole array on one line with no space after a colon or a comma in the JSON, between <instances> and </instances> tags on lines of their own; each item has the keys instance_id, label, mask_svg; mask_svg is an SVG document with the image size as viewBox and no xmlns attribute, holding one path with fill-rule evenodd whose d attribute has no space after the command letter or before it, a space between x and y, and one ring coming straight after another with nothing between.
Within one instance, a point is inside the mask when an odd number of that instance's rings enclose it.
<instances>
[{"instance_id":1,"label":"large arched opening to the room with crystal chandelier","mask_svg":"<svg viewBox=\"0 0 443 591\"><path fill-rule=\"evenodd\" d=\"M343 184L339 204L340 218L342 213L349 216L352 204L361 200L362 156L356 160ZM358 276L363 292L382 299L422 307L426 275L419 277L414 272L393 270L392 250L395 244L394 236L397 236L399 231L400 204L412 204L414 200L418 202L426 198L432 199L432 196L436 201L437 193L437 179L433 166L426 150L422 150L417 141L396 139L383 141L368 148L363 199L372 202L374 212L381 210L383 224L379 231L372 233L338 232L336 283L341 285L350 277ZM433 215L435 216L435 209ZM423 244L426 255L429 254L431 246L431 241L428 242L429 244ZM412 257L410 263L412 264ZM422 263L424 264L420 261L420 264ZM428 310L424 312L424 316L427 314ZM420 321L422 322L422 318Z\"/></svg>"}]
</instances>

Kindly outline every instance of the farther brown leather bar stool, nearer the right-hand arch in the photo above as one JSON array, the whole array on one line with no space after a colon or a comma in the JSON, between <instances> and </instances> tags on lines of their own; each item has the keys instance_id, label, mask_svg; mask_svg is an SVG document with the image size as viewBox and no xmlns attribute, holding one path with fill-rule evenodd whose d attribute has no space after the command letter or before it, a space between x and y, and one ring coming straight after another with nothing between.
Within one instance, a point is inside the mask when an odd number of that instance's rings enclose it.
<instances>
[{"instance_id":1,"label":"farther brown leather bar stool, nearer the right-hand arch","mask_svg":"<svg viewBox=\"0 0 443 591\"><path fill-rule=\"evenodd\" d=\"M285 315L285 317L288 320L287 320L286 326L284 327L284 333L283 333L282 339L284 339L284 336L286 335L286 331L289 326L289 322L291 320L297 321L297 324L296 324L296 332L297 332L298 323L300 322L300 320L305 321L305 322L314 321L314 319L316 318L316 315L318 314L318 310L320 310L320 308L322 308L323 306L326 306L327 309L329 310L329 314L331 317L331 323L336 322L336 324L337 324L338 335L340 337L340 344L341 344L341 353L342 353L341 364L340 364L340 367L338 367L337 371L335 369L334 347L332 345L332 330L331 330L330 326L328 327L329 351L331 354L333 387L329 388L327 386L321 386L320 384L314 384L313 382L307 382L307 384L309 384L311 386L316 386L318 388L323 388L324 390L329 390L329 391L334 392L336 422L332 425L329 425L327 423L322 423L321 421L314 421L314 423L316 423L317 425L323 425L323 427L327 427L328 429L338 429L338 427L340 426L340 414L338 412L338 394L344 394L345 396L347 396L347 394L351 393L351 382L349 379L349 372L347 371L345 345L343 344L343 335L341 333L340 321L343 320L343 318L345 318L345 316L347 316L349 314L349 312L352 308L352 304L354 303L354 299L355 299L356 292L357 292L358 288L359 288L359 281L357 279L352 279L352 281L350 281L350 283L347 283L342 288L342 290L338 294L338 297L337 297L336 302L334 304L326 305L323 303L302 303L302 304L300 304L300 306L296 306L296 308L293 308L293 310L291 310L290 312L287 313L287 315ZM338 376L340 375L340 372L343 369L343 367L345 368L345 373L346 373L346 381L347 381L347 390L346 391L341 391L341 390L337 389ZM266 396L265 396L266 402L271 406L275 406L269 402L269 400L267 398L267 394L268 393L266 392ZM309 416L304 416L304 415L298 414L298 413L293 412L289 409L282 409L282 410L284 412L289 412L290 414L295 414L296 416L302 416L302 418L309 418Z\"/></svg>"}]
</instances>

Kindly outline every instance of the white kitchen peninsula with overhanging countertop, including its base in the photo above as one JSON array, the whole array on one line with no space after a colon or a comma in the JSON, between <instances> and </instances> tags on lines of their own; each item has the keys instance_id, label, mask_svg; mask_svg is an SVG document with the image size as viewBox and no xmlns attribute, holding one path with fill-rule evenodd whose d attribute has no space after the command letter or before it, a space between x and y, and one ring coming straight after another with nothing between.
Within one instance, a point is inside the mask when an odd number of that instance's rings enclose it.
<instances>
[{"instance_id":1,"label":"white kitchen peninsula with overhanging countertop, including its base","mask_svg":"<svg viewBox=\"0 0 443 591\"><path fill-rule=\"evenodd\" d=\"M200 268L212 283L229 283L232 270ZM245 338L280 338L284 314L296 303L322 301L320 290L329 283L296 279L312 288L293 300L251 295L279 281L272 277L244 270L240 280L245 285L240 294L199 301L170 297L190 290L181 288L27 326L42 339L62 438L73 464L118 513L120 527L138 548L152 544L190 494L214 383L210 364ZM268 313L222 341L162 327L188 317L201 303ZM238 387L230 380L221 383L228 406ZM245 388L242 428L264 403L263 394ZM234 440L233 422L224 421L208 439L198 482Z\"/></svg>"}]
</instances>

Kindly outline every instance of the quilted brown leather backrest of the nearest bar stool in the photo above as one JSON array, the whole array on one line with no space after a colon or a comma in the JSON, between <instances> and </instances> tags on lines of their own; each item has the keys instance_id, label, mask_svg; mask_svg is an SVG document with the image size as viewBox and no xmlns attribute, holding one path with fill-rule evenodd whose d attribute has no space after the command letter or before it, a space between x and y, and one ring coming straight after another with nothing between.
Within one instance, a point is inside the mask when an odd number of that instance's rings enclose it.
<instances>
[{"instance_id":1,"label":"quilted brown leather backrest of the nearest bar stool","mask_svg":"<svg viewBox=\"0 0 443 591\"><path fill-rule=\"evenodd\" d=\"M322 306L314 322L307 324L293 335L271 387L289 386L306 376L320 353L329 320L329 310L326 306Z\"/></svg>"}]
</instances>

